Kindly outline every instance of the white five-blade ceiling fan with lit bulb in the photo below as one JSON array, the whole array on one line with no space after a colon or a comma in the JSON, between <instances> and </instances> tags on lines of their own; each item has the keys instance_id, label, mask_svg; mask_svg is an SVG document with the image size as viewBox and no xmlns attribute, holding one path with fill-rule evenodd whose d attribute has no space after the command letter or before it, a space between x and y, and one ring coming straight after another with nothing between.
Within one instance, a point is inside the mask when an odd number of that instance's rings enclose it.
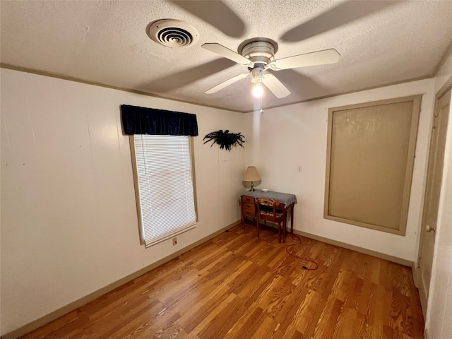
<instances>
[{"instance_id":1,"label":"white five-blade ceiling fan with lit bulb","mask_svg":"<svg viewBox=\"0 0 452 339\"><path fill-rule=\"evenodd\" d=\"M207 94L217 93L219 90L242 80L251 74L251 82L256 83L253 93L256 96L262 94L262 84L278 98L287 97L290 91L267 70L280 71L283 69L296 69L298 67L315 66L323 64L335 64L340 54L335 49L324 49L319 52L299 54L293 57L275 59L275 44L269 39L256 38L246 43L242 48L242 54L238 54L218 43L207 43L201 47L210 52L219 54L248 68L247 73L234 76L227 81L210 88Z\"/></svg>"}]
</instances>

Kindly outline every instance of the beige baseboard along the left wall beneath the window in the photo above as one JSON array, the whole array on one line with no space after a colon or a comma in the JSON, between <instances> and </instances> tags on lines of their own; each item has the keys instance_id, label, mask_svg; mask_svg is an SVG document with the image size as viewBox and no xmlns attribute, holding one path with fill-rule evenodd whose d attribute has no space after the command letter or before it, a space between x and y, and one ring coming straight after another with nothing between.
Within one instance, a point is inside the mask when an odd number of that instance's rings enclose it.
<instances>
[{"instance_id":1,"label":"beige baseboard along the left wall beneath the window","mask_svg":"<svg viewBox=\"0 0 452 339\"><path fill-rule=\"evenodd\" d=\"M108 293L117 287L120 287L121 285L124 285L125 283L129 283L129 281L138 278L140 275L148 273L150 270L153 270L154 268L157 268L158 266L163 265L164 263L167 263L168 261L171 261L174 258L177 258L177 256L180 256L181 254L184 254L185 252L187 252L191 249L194 249L196 246L199 246L199 245L203 244L204 242L207 242L208 240L216 237L218 234L221 234L222 232L229 230L231 227L237 226L241 223L242 223L242 220L237 220L236 222L232 222L232 224L222 227L222 229L215 231L212 234L209 234L207 237L203 237L203 239L199 239L197 242L194 242L193 244L190 244L189 246L186 246L183 249L179 249L179 251L176 251L173 254L170 254L169 256L165 256L165 258L162 258L159 261L155 261L155 263L151 263L149 266L146 266L145 268L141 268L140 270L137 270L134 273L126 275L126 277L121 278L121 279L115 281L114 283L111 283L105 287L102 287L99 290L90 293L89 295L85 295L85 297L81 297L80 299L77 299L76 301L71 302L64 307L56 309L55 311L52 311L51 313L46 314L45 316L42 316L39 319L31 321L30 323L27 323L24 326L17 328L16 330L13 330L9 333L1 335L0 338L1 339L16 339L16 338L20 337L21 335L25 335L25 334L35 330L36 328L39 328L40 326L43 326L46 323L49 323L50 321L53 321L53 320L59 318L60 316L64 316L64 314L67 314L70 311L73 311L74 309L78 309L78 307L88 304L88 302L92 302L94 299L97 299L98 297L105 295L105 293Z\"/></svg>"}]
</instances>

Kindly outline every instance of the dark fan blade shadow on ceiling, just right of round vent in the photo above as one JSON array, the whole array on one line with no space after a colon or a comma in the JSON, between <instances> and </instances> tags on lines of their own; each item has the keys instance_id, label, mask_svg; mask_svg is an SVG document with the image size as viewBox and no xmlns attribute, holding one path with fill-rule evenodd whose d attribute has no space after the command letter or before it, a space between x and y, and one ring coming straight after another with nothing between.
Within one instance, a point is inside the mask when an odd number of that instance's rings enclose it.
<instances>
[{"instance_id":1,"label":"dark fan blade shadow on ceiling, just right of round vent","mask_svg":"<svg viewBox=\"0 0 452 339\"><path fill-rule=\"evenodd\" d=\"M242 37L245 24L223 1L171 1L229 37Z\"/></svg>"}]
</instances>

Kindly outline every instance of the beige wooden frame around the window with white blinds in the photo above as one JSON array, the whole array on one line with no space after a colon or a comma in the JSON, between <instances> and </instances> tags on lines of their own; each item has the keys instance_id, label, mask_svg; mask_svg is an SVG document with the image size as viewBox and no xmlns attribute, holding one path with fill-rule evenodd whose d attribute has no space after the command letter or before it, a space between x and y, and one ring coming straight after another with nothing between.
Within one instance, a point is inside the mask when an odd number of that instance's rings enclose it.
<instances>
[{"instance_id":1,"label":"beige wooden frame around the window with white blinds","mask_svg":"<svg viewBox=\"0 0 452 339\"><path fill-rule=\"evenodd\" d=\"M172 136L172 137L179 137L179 136ZM142 215L142 213L141 213L141 196L140 196L140 190L139 190L139 186L138 186L138 170L137 170L137 166L136 166L136 152L135 152L135 139L134 139L135 135L129 135L132 172L133 172L133 186L135 189L136 213L137 213L137 218L138 218L138 231L139 231L139 236L140 236L140 244L145 245L145 248L148 248L155 244L159 244L160 242L164 242L167 239L176 237L177 235L187 232L189 230L193 230L196 227L196 223L198 222L198 201L196 198L197 195L196 195L196 176L195 176L196 171L195 171L195 159L194 159L194 142L193 142L193 136L186 136L186 137L189 140L189 152L190 152L190 161L191 161L191 183L193 185L195 224L184 230L176 231L172 234L169 234L167 237L164 237L162 239L157 239L155 242L152 242L151 244L146 245L145 237L144 237L143 220L141 218L141 215Z\"/></svg>"}]
</instances>

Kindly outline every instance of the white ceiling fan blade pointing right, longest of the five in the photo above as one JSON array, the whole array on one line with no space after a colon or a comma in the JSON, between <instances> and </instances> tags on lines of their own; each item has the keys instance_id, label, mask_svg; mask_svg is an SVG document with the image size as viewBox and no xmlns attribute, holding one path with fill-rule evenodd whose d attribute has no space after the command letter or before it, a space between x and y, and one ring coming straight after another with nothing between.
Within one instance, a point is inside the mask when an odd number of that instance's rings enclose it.
<instances>
[{"instance_id":1,"label":"white ceiling fan blade pointing right, longest of the five","mask_svg":"<svg viewBox=\"0 0 452 339\"><path fill-rule=\"evenodd\" d=\"M340 54L335 49L324 49L319 52L295 55L270 62L270 69L280 71L281 69L297 69L298 67L335 64Z\"/></svg>"}]
</instances>

